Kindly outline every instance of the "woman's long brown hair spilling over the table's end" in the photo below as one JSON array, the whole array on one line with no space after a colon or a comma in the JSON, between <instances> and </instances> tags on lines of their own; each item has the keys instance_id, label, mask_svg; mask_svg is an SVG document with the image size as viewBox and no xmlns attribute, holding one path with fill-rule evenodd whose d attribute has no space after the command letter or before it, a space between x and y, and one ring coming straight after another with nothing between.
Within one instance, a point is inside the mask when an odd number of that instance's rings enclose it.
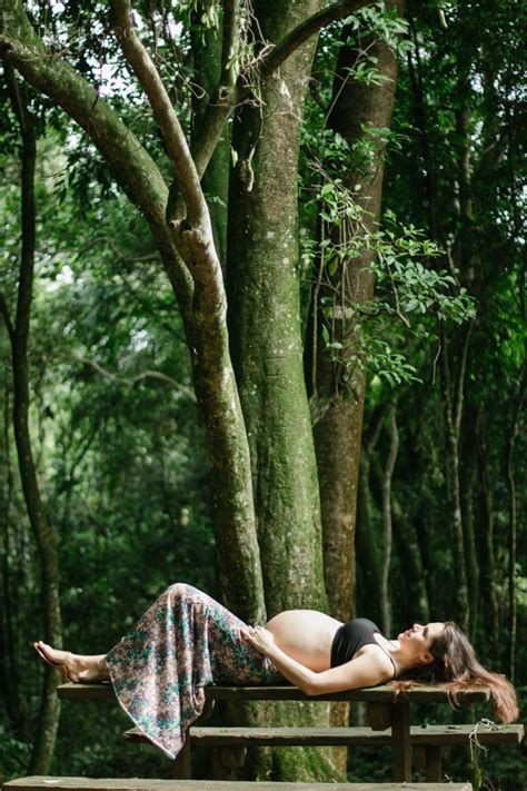
<instances>
[{"instance_id":1,"label":"woman's long brown hair spilling over the table's end","mask_svg":"<svg viewBox=\"0 0 527 791\"><path fill-rule=\"evenodd\" d=\"M479 663L468 637L457 624L453 621L446 622L441 634L431 643L430 653L434 662L405 673L401 679L443 682L453 693L454 701L458 692L488 688L499 720L517 720L518 701L513 684L505 675L491 673Z\"/></svg>"}]
</instances>

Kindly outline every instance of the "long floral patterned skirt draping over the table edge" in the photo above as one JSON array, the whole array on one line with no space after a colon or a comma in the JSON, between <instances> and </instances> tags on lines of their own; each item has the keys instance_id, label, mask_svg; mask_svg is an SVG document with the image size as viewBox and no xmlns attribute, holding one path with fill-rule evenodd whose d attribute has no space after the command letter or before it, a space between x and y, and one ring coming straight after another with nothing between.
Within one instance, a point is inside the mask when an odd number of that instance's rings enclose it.
<instances>
[{"instance_id":1,"label":"long floral patterned skirt draping over the table edge","mask_svg":"<svg viewBox=\"0 0 527 791\"><path fill-rule=\"evenodd\" d=\"M180 751L210 684L284 676L240 635L246 624L191 585L171 585L107 655L120 705L169 758Z\"/></svg>"}]
</instances>

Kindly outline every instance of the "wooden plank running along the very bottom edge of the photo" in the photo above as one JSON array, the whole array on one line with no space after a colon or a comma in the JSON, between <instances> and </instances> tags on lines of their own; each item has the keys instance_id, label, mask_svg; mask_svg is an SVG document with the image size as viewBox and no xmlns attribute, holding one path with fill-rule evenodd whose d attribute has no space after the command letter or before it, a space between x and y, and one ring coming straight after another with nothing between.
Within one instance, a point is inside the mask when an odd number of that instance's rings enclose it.
<instances>
[{"instance_id":1,"label":"wooden plank running along the very bottom edge of the photo","mask_svg":"<svg viewBox=\"0 0 527 791\"><path fill-rule=\"evenodd\" d=\"M4 783L13 791L335 791L335 783L235 782L107 778L20 778ZM339 791L473 791L470 783L339 783Z\"/></svg>"}]
</instances>

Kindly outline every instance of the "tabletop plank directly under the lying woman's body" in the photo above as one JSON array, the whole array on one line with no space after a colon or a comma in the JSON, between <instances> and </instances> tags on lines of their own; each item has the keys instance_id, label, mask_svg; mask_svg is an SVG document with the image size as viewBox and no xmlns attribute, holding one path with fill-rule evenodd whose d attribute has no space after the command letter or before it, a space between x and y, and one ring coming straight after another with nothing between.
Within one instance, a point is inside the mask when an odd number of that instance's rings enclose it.
<instances>
[{"instance_id":1,"label":"tabletop plank directly under the lying woman's body","mask_svg":"<svg viewBox=\"0 0 527 791\"><path fill-rule=\"evenodd\" d=\"M57 694L62 700L111 700L113 688L105 684L60 684ZM398 691L394 686L381 685L362 690L335 692L329 695L309 696L296 686L206 686L207 700L258 700L258 701L366 701L372 703L394 703L396 700L408 700L416 703L440 703L449 700L448 691L441 685L416 686ZM485 701L489 690L471 690L459 694L460 702Z\"/></svg>"}]
</instances>

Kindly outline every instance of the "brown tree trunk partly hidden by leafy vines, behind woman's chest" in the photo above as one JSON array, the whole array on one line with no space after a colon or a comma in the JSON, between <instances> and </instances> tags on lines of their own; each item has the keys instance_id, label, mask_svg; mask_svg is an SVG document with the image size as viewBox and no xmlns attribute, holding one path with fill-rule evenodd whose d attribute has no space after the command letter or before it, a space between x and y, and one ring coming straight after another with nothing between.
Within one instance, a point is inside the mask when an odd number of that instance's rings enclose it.
<instances>
[{"instance_id":1,"label":"brown tree trunk partly hidden by leafy vines, behind woman's chest","mask_svg":"<svg viewBox=\"0 0 527 791\"><path fill-rule=\"evenodd\" d=\"M402 2L389 3L402 13ZM372 42L370 53L378 58L378 69L386 80L380 85L365 86L354 81L348 73L357 58L357 51L346 46L347 31L342 33L337 73L334 82L331 111L328 126L339 132L351 146L367 132L364 127L388 128L391 120L397 59L388 48ZM382 192L384 144L379 142L375 164L367 175L359 175L355 168L344 174L344 182L350 190L360 185L359 202L367 210L364 218L365 233L377 228ZM341 176L339 174L339 176ZM346 225L346 224L345 224ZM342 234L349 229L331 229L336 244L345 243ZM328 287L320 288L319 297L335 299L341 295L341 304L335 304L331 340L342 344L346 356L351 362L354 354L354 306L370 299L374 293L371 274L372 255L365 253L355 259L345 260ZM321 264L322 265L322 264ZM320 303L312 305L320 313ZM321 316L315 323L321 326ZM346 382L342 367L331 363L324 348L321 336L310 339L317 347L316 372L308 373L312 382L311 398L315 398L315 443L320 486L324 533L324 566L330 613L347 621L351 615L355 593L355 528L357 510L357 487L360 463L360 436L365 398L365 375L358 367L351 380ZM312 353L308 350L307 357ZM352 363L351 363L352 365Z\"/></svg>"}]
</instances>

